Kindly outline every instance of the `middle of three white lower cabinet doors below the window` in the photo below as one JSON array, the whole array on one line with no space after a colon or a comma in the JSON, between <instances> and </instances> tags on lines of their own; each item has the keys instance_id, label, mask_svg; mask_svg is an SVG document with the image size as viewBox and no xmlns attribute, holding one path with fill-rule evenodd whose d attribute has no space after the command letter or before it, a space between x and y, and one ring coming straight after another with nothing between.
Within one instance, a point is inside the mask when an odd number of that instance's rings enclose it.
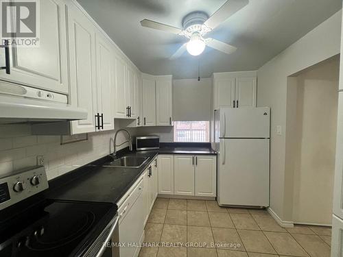
<instances>
[{"instance_id":1,"label":"middle of three white lower cabinet doors below the window","mask_svg":"<svg viewBox=\"0 0 343 257\"><path fill-rule=\"evenodd\" d=\"M194 195L194 156L174 156L174 195Z\"/></svg>"}]
</instances>

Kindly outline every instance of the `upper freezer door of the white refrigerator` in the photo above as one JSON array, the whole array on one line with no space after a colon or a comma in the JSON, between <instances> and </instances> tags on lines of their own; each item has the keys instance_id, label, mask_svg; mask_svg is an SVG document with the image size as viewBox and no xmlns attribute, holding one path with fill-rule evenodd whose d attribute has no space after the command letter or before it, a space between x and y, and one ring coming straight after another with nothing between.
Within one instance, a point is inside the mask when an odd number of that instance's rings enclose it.
<instances>
[{"instance_id":1,"label":"upper freezer door of the white refrigerator","mask_svg":"<svg viewBox=\"0 0 343 257\"><path fill-rule=\"evenodd\" d=\"M220 109L220 138L270 138L270 108Z\"/></svg>"}]
</instances>

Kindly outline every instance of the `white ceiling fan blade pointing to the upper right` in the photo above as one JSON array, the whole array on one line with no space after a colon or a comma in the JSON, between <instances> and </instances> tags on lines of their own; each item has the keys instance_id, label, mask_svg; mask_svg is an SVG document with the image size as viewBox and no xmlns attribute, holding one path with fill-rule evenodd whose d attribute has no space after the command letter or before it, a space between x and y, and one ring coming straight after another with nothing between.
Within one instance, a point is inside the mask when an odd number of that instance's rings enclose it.
<instances>
[{"instance_id":1,"label":"white ceiling fan blade pointing to the upper right","mask_svg":"<svg viewBox=\"0 0 343 257\"><path fill-rule=\"evenodd\" d=\"M249 0L228 0L226 1L226 3L224 3L224 5L222 5L221 8L217 10L217 12L212 14L212 16L209 17L209 19L205 21L204 24L207 27L214 29L215 27L226 21L228 17L241 10L241 8L244 8L244 6L248 5L248 3Z\"/></svg>"}]
</instances>

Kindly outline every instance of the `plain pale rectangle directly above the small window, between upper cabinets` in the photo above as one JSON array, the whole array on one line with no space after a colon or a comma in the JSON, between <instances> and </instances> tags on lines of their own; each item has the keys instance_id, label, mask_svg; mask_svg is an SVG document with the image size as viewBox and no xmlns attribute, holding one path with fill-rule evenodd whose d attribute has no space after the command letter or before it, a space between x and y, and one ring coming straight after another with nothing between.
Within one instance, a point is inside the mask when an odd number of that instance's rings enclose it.
<instances>
[{"instance_id":1,"label":"plain pale rectangle directly above the small window, between upper cabinets","mask_svg":"<svg viewBox=\"0 0 343 257\"><path fill-rule=\"evenodd\" d=\"M173 80L174 121L210 121L211 78Z\"/></svg>"}]
</instances>

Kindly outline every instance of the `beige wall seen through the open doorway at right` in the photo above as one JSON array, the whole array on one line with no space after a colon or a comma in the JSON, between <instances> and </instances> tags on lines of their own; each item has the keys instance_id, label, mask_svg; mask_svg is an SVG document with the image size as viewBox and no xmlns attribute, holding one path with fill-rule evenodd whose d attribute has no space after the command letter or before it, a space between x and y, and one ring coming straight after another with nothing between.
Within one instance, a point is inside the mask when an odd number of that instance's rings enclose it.
<instances>
[{"instance_id":1,"label":"beige wall seen through the open doorway at right","mask_svg":"<svg viewBox=\"0 0 343 257\"><path fill-rule=\"evenodd\" d=\"M320 63L296 76L287 95L287 107L296 106L286 138L286 148L295 140L293 160L286 156L294 163L294 223L331 224L339 73L340 58Z\"/></svg>"}]
</instances>

